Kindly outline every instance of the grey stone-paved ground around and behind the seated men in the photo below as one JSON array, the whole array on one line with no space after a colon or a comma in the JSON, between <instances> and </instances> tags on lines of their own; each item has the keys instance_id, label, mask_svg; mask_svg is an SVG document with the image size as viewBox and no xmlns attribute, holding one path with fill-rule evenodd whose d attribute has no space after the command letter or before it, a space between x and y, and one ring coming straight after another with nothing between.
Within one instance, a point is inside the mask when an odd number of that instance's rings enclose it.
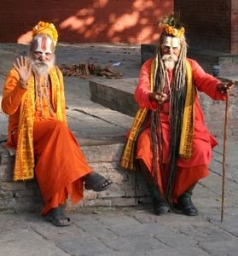
<instances>
[{"instance_id":1,"label":"grey stone-paved ground around and behind the seated men","mask_svg":"<svg viewBox=\"0 0 238 256\"><path fill-rule=\"evenodd\" d=\"M15 57L26 45L0 44L0 89ZM124 79L140 70L140 46L131 44L59 44L57 64L98 62L102 67L120 62L115 71ZM90 78L106 79L106 78ZM233 78L234 79L234 78ZM69 126L79 143L113 135L124 136L132 118L90 102L89 79L65 77ZM0 112L1 140L7 134L7 116ZM0 214L0 255L237 255L238 162L237 137L227 142L223 222L221 196L223 137L213 151L210 176L194 189L199 216L174 213L155 216L151 205L125 208L86 208L69 214L73 224L57 228L39 212ZM0 195L1 196L1 195Z\"/></svg>"}]
</instances>

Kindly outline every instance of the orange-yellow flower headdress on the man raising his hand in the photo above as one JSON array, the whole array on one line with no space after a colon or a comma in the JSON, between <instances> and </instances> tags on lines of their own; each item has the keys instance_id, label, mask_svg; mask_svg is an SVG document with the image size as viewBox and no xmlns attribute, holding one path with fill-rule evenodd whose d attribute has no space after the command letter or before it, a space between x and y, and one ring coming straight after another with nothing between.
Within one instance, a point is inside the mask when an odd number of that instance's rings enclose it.
<instances>
[{"instance_id":1,"label":"orange-yellow flower headdress on the man raising his hand","mask_svg":"<svg viewBox=\"0 0 238 256\"><path fill-rule=\"evenodd\" d=\"M53 23L39 21L37 26L32 28L32 38L37 36L38 34L47 34L54 41L54 44L57 44L58 41L58 32L55 29Z\"/></svg>"}]
</instances>

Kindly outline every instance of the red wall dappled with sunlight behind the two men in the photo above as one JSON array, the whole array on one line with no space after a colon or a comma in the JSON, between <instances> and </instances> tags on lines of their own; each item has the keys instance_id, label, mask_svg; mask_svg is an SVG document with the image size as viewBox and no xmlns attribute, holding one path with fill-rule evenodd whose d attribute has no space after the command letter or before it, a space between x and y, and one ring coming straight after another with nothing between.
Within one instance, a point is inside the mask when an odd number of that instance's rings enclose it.
<instances>
[{"instance_id":1,"label":"red wall dappled with sunlight behind the two men","mask_svg":"<svg viewBox=\"0 0 238 256\"><path fill-rule=\"evenodd\" d=\"M28 43L42 20L55 24L61 42L150 43L159 38L161 15L172 10L167 0L6 0L0 3L0 42Z\"/></svg>"}]
</instances>

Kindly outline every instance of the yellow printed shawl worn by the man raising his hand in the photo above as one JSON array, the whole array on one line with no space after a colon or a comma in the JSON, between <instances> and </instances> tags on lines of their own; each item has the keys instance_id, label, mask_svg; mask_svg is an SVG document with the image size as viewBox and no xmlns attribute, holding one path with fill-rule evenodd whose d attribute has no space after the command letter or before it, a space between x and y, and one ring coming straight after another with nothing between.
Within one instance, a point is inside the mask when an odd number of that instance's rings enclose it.
<instances>
[{"instance_id":1,"label":"yellow printed shawl worn by the man raising his hand","mask_svg":"<svg viewBox=\"0 0 238 256\"><path fill-rule=\"evenodd\" d=\"M58 67L52 68L49 77L51 81L52 102L55 106L56 117L62 120L61 113L61 81L58 76ZM27 91L20 104L20 122L18 126L18 142L15 155L14 180L26 180L34 177L34 148L33 125L35 106L34 76L28 80Z\"/></svg>"}]
</instances>

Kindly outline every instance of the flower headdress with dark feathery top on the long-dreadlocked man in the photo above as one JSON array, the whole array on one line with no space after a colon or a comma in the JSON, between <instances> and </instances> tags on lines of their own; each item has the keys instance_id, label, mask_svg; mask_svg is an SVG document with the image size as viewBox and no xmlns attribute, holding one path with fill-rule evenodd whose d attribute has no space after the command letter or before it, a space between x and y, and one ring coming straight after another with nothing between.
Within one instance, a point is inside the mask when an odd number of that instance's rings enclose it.
<instances>
[{"instance_id":1,"label":"flower headdress with dark feathery top on the long-dreadlocked man","mask_svg":"<svg viewBox=\"0 0 238 256\"><path fill-rule=\"evenodd\" d=\"M160 20L160 29L176 38L183 36L185 29L179 20L179 14L171 13Z\"/></svg>"}]
</instances>

